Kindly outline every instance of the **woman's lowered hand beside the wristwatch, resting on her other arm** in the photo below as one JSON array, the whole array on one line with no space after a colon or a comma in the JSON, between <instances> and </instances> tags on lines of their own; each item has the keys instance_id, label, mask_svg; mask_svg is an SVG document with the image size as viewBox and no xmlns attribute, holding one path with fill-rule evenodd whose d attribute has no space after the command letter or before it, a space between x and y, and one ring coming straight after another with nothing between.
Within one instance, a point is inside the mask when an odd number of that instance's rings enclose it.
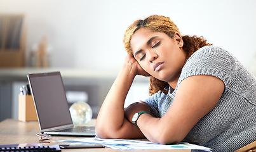
<instances>
[{"instance_id":1,"label":"woman's lowered hand beside the wristwatch, resting on her other arm","mask_svg":"<svg viewBox=\"0 0 256 152\"><path fill-rule=\"evenodd\" d=\"M132 117L137 112L148 112L151 113L149 105L143 101L132 103L127 108L125 108L125 118L132 123ZM151 114L152 115L152 114Z\"/></svg>"}]
</instances>

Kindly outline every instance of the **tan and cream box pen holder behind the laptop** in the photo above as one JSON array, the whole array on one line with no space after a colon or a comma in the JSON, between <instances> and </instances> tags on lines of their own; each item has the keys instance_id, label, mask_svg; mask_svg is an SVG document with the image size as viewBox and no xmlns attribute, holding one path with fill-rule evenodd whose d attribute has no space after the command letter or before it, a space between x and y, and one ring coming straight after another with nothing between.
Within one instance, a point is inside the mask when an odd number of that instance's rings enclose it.
<instances>
[{"instance_id":1,"label":"tan and cream box pen holder behind the laptop","mask_svg":"<svg viewBox=\"0 0 256 152\"><path fill-rule=\"evenodd\" d=\"M31 95L18 95L18 120L37 121L36 109Z\"/></svg>"}]
</instances>

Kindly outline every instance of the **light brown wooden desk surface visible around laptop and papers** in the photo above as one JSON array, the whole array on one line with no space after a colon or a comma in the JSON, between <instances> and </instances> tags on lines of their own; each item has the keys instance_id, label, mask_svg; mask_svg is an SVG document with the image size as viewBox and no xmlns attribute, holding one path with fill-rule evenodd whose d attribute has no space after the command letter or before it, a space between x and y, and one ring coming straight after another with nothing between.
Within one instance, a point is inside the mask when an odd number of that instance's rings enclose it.
<instances>
[{"instance_id":1,"label":"light brown wooden desk surface visible around laptop and papers","mask_svg":"<svg viewBox=\"0 0 256 152\"><path fill-rule=\"evenodd\" d=\"M95 120L91 120L88 125L95 124ZM6 119L0 122L0 144L22 144L22 143L39 143L36 133L40 132L38 122L20 122L18 120ZM51 136L50 144L43 143L45 146L50 146L58 143L53 141L64 139L78 139L84 137L70 137L70 136ZM93 152L114 152L111 148L86 148L86 149L62 149L62 151L93 151ZM138 152L139 150L133 150ZM188 149L175 150L151 150L157 152L189 152ZM130 152L130 151L129 151ZM141 151L140 151L141 152Z\"/></svg>"}]
</instances>

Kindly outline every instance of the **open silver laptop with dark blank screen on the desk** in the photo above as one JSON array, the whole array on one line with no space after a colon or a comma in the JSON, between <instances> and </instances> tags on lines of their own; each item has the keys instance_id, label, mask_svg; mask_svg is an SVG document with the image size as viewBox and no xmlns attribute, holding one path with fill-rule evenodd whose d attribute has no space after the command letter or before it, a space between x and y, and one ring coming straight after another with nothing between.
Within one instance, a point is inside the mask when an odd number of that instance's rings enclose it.
<instances>
[{"instance_id":1,"label":"open silver laptop with dark blank screen on the desk","mask_svg":"<svg viewBox=\"0 0 256 152\"><path fill-rule=\"evenodd\" d=\"M42 134L55 136L95 136L95 126L72 123L60 72L27 75Z\"/></svg>"}]
</instances>

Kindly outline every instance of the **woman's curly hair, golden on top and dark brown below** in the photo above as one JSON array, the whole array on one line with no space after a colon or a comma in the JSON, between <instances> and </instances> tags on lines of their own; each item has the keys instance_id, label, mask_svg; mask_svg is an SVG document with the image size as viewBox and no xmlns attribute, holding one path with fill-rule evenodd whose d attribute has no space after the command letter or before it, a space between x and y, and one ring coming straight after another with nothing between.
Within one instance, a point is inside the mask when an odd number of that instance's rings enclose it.
<instances>
[{"instance_id":1,"label":"woman's curly hair, golden on top and dark brown below","mask_svg":"<svg viewBox=\"0 0 256 152\"><path fill-rule=\"evenodd\" d=\"M155 32L163 32L173 38L175 32L180 34L179 28L175 25L175 23L170 20L169 17L159 16L159 15L152 15L145 20L137 20L133 24L131 24L125 32L125 36L123 42L125 44L125 49L128 54L133 56L133 51L131 49L130 41L131 37L135 32L140 28L148 28ZM184 41L183 49L187 54L187 58L191 56L195 51L203 46L210 46L211 44L207 43L203 37L197 36L182 36ZM149 87L149 94L155 94L158 91L161 92L168 92L169 84L162 80L158 80L155 77L150 77L150 87Z\"/></svg>"}]
</instances>

